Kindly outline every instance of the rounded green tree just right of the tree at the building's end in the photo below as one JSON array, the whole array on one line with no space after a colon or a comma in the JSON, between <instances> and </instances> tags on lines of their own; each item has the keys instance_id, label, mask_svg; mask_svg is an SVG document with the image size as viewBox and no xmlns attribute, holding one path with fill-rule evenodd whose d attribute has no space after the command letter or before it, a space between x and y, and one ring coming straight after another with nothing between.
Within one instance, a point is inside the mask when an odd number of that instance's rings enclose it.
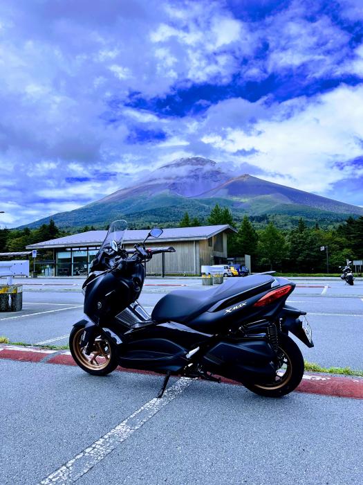
<instances>
[{"instance_id":1,"label":"rounded green tree just right of the tree at the building's end","mask_svg":"<svg viewBox=\"0 0 363 485\"><path fill-rule=\"evenodd\" d=\"M259 236L259 255L263 265L268 264L270 270L281 265L286 256L286 240L283 233L270 222Z\"/></svg>"}]
</instances>

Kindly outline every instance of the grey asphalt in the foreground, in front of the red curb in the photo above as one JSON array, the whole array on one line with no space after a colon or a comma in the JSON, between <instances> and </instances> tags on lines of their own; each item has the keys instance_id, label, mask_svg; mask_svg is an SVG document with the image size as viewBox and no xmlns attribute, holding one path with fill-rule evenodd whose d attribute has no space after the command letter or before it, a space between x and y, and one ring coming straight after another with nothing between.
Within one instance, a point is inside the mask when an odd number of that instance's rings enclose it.
<instances>
[{"instance_id":1,"label":"grey asphalt in the foreground, in front of the red curb","mask_svg":"<svg viewBox=\"0 0 363 485\"><path fill-rule=\"evenodd\" d=\"M0 370L3 485L362 483L361 400L173 379L163 401L155 376Z\"/></svg>"}]
</instances>

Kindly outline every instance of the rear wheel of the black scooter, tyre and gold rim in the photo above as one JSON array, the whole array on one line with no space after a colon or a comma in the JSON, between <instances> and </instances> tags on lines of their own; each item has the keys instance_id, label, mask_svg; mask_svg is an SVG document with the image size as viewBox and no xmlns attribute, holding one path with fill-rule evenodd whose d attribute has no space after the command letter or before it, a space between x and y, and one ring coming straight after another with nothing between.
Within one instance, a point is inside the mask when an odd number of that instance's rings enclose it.
<instances>
[{"instance_id":1,"label":"rear wheel of the black scooter, tyre and gold rim","mask_svg":"<svg viewBox=\"0 0 363 485\"><path fill-rule=\"evenodd\" d=\"M269 382L252 384L243 382L243 385L259 396L280 398L292 392L304 376L304 358L297 344L281 333L279 335L279 369L276 376Z\"/></svg>"}]
</instances>

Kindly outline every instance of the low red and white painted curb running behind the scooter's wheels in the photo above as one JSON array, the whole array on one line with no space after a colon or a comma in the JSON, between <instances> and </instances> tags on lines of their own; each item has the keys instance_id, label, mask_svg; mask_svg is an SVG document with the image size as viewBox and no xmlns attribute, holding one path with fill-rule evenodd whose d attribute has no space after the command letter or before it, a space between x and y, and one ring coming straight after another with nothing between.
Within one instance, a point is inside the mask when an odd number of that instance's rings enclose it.
<instances>
[{"instance_id":1,"label":"low red and white painted curb running behind the scooter's wheels","mask_svg":"<svg viewBox=\"0 0 363 485\"><path fill-rule=\"evenodd\" d=\"M76 365L71 352L69 351L54 351L36 347L6 344L0 345L0 359L35 363L41 362L44 364ZM151 371L124 369L122 367L118 367L116 370L158 375ZM221 378L221 380L225 384L241 385L239 382L227 378ZM326 374L305 373L303 380L297 389L295 389L295 392L335 396L339 398L363 399L363 378L349 376L335 377L327 376Z\"/></svg>"}]
</instances>

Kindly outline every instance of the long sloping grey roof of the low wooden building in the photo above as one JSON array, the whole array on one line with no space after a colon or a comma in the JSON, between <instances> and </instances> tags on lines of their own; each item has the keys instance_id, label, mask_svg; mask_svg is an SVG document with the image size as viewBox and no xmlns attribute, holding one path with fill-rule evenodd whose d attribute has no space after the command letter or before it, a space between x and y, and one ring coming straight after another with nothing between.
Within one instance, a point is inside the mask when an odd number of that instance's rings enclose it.
<instances>
[{"instance_id":1,"label":"long sloping grey roof of the low wooden building","mask_svg":"<svg viewBox=\"0 0 363 485\"><path fill-rule=\"evenodd\" d=\"M236 229L228 224L219 226L201 227L172 227L164 229L158 241L186 241L203 240L211 238L220 232L236 232ZM106 237L107 231L87 231L64 238L43 241L42 243L30 244L26 249L50 249L53 247L81 247L81 246L100 246ZM124 235L124 243L140 243L149 233L149 229L127 230ZM152 239L151 239L152 240Z\"/></svg>"}]
</instances>

